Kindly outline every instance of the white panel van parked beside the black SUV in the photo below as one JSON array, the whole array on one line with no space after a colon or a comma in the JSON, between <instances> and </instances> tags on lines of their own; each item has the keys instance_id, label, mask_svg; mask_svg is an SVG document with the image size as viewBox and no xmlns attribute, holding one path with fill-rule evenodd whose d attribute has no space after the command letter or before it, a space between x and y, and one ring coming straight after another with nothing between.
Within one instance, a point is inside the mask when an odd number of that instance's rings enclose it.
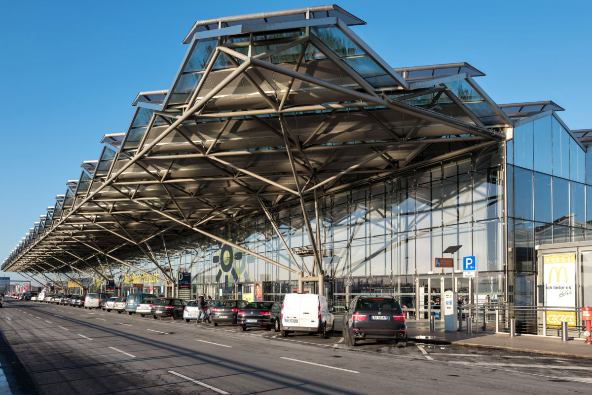
<instances>
[{"instance_id":1,"label":"white panel van parked beside the black SUV","mask_svg":"<svg viewBox=\"0 0 592 395\"><path fill-rule=\"evenodd\" d=\"M287 294L282 302L282 336L290 332L318 333L323 339L333 330L327 298L317 294Z\"/></svg>"}]
</instances>

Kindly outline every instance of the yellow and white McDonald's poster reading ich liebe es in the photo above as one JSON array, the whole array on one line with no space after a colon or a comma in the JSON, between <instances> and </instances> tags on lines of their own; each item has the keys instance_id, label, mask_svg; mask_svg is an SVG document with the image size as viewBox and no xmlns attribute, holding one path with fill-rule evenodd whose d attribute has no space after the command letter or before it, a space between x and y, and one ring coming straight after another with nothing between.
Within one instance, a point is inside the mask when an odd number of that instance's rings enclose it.
<instances>
[{"instance_id":1,"label":"yellow and white McDonald's poster reading ich liebe es","mask_svg":"<svg viewBox=\"0 0 592 395\"><path fill-rule=\"evenodd\" d=\"M543 281L545 306L575 307L575 254L543 256ZM545 318L549 326L576 325L575 311L546 311Z\"/></svg>"}]
</instances>

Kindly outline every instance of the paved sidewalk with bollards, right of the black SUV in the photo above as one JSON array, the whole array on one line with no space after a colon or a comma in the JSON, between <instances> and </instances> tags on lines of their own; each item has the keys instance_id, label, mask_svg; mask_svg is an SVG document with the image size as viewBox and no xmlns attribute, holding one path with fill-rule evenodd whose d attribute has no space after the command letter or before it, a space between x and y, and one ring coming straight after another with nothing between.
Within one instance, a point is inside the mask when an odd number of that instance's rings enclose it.
<instances>
[{"instance_id":1,"label":"paved sidewalk with bollards, right of the black SUV","mask_svg":"<svg viewBox=\"0 0 592 395\"><path fill-rule=\"evenodd\" d=\"M461 332L445 332L444 323L437 320L435 330L430 332L429 320L407 320L408 338L417 343L497 348L592 359L592 345L585 344L583 339L562 342L558 337L532 335L517 335L510 338L508 333L468 334L466 329L463 329Z\"/></svg>"}]
</instances>

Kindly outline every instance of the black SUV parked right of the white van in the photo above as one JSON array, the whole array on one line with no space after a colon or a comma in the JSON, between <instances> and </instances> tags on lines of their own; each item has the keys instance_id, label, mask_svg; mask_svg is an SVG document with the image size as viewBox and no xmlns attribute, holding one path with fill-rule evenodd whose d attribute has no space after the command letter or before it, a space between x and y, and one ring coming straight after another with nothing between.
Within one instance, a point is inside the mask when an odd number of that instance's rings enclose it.
<instances>
[{"instance_id":1,"label":"black SUV parked right of the white van","mask_svg":"<svg viewBox=\"0 0 592 395\"><path fill-rule=\"evenodd\" d=\"M405 314L393 297L356 296L343 316L343 339L348 346L358 339L378 339L395 340L397 347L404 347Z\"/></svg>"}]
</instances>

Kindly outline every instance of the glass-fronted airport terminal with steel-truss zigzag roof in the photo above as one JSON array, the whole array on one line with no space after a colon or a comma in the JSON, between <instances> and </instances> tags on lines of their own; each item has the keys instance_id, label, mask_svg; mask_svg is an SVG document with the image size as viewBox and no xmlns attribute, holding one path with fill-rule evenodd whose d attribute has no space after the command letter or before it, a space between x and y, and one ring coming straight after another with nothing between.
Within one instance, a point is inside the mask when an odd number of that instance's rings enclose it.
<instances>
[{"instance_id":1,"label":"glass-fronted airport terminal with steel-truss zigzag roof","mask_svg":"<svg viewBox=\"0 0 592 395\"><path fill-rule=\"evenodd\" d=\"M451 289L592 304L592 130L494 102L468 63L388 65L360 24L334 5L197 21L170 88L137 95L2 270L338 309L394 295L415 317Z\"/></svg>"}]
</instances>

